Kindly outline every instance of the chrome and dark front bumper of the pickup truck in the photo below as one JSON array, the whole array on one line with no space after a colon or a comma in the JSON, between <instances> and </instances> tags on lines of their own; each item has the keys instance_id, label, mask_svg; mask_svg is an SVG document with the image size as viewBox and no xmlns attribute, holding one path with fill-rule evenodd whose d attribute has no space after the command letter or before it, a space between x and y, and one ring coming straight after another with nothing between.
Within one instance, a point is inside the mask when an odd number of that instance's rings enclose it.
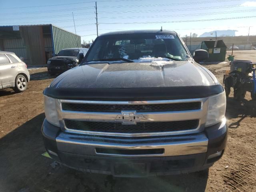
<instances>
[{"instance_id":1,"label":"chrome and dark front bumper of the pickup truck","mask_svg":"<svg viewBox=\"0 0 256 192\"><path fill-rule=\"evenodd\" d=\"M132 177L206 169L221 158L227 132L226 120L197 134L146 139L68 134L46 120L42 126L46 150L62 164L84 172ZM218 152L220 156L208 159Z\"/></svg>"}]
</instances>

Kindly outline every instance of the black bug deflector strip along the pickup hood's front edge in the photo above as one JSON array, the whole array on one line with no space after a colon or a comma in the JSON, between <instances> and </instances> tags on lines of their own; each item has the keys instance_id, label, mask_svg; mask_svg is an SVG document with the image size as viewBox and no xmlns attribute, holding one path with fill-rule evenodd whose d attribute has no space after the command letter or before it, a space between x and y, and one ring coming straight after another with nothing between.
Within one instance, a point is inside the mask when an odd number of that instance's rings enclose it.
<instances>
[{"instance_id":1,"label":"black bug deflector strip along the pickup hood's front edge","mask_svg":"<svg viewBox=\"0 0 256 192\"><path fill-rule=\"evenodd\" d=\"M205 98L224 91L222 85L151 88L54 88L44 95L56 99L99 101L146 101Z\"/></svg>"}]
</instances>

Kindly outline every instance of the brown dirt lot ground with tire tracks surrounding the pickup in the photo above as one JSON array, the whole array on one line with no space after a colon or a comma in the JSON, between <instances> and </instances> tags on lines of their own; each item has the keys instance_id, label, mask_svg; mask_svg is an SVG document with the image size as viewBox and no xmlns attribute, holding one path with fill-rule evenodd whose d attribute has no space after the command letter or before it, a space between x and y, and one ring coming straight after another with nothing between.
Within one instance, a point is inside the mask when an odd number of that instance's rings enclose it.
<instances>
[{"instance_id":1,"label":"brown dirt lot ground with tire tracks surrounding the pickup","mask_svg":"<svg viewBox=\"0 0 256 192\"><path fill-rule=\"evenodd\" d=\"M227 55L231 54L228 51ZM234 51L236 59L256 62L256 50ZM222 82L229 64L204 64ZM42 91L53 80L46 68L30 70L22 94L0 90L0 192L255 192L256 102L227 99L228 144L224 156L208 172L148 178L113 178L85 174L63 166L52 168L41 136ZM228 166L228 167L227 167ZM226 168L225 168L226 167Z\"/></svg>"}]
</instances>

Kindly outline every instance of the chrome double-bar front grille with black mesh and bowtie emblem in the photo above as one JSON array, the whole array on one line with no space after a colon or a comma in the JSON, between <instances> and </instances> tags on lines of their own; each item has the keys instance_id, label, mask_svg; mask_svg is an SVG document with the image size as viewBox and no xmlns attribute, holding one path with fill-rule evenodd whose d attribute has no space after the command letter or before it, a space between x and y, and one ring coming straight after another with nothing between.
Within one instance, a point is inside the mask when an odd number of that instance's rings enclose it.
<instances>
[{"instance_id":1,"label":"chrome double-bar front grille with black mesh and bowtie emblem","mask_svg":"<svg viewBox=\"0 0 256 192\"><path fill-rule=\"evenodd\" d=\"M208 110L208 98L56 101L63 131L100 136L140 137L201 132Z\"/></svg>"}]
</instances>

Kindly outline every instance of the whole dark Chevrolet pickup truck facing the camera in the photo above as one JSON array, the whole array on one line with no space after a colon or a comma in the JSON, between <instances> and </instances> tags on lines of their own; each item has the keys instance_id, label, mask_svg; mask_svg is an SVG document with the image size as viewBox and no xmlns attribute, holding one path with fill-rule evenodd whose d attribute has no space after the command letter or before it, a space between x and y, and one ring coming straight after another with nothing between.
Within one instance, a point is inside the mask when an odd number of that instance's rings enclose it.
<instances>
[{"instance_id":1,"label":"whole dark Chevrolet pickup truck facing the camera","mask_svg":"<svg viewBox=\"0 0 256 192\"><path fill-rule=\"evenodd\" d=\"M224 153L226 94L176 32L111 32L44 90L42 134L63 165L120 177L207 169ZM80 59L82 59L82 55Z\"/></svg>"}]
</instances>

